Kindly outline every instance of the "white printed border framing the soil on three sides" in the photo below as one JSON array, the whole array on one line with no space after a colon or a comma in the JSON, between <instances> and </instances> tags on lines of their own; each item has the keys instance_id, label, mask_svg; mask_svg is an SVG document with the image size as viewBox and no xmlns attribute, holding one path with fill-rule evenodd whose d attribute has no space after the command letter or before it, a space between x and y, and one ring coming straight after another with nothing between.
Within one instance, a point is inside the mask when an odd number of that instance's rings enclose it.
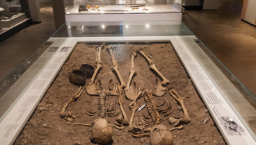
<instances>
[{"instance_id":1,"label":"white printed border framing the soil on three sides","mask_svg":"<svg viewBox=\"0 0 256 145\"><path fill-rule=\"evenodd\" d=\"M50 38L54 43L62 41L56 53L45 64L40 73L21 94L17 103L13 105L6 117L0 123L1 144L13 144L20 130L26 124L33 110L38 105L42 96L47 91L49 85L54 80L56 74L64 65L65 60L70 56L77 42L170 42L182 61L186 71L193 80L202 100L205 102L211 116L214 118L219 130L227 144L256 144L255 139L250 135L246 126L237 117L225 97L214 84L208 74L204 71L200 62L193 56L193 53L184 43L182 37L70 37L70 38ZM186 101L186 100L185 100ZM225 123L236 123L237 132L233 133L232 128L226 128Z\"/></svg>"}]
</instances>

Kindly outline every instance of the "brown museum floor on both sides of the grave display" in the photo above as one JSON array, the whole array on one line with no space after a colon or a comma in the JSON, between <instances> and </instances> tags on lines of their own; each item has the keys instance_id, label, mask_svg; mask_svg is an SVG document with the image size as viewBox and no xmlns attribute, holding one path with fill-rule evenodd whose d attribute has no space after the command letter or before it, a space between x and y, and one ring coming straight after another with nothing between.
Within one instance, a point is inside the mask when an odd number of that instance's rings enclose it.
<instances>
[{"instance_id":1,"label":"brown museum floor on both sides of the grave display","mask_svg":"<svg viewBox=\"0 0 256 145\"><path fill-rule=\"evenodd\" d=\"M186 10L182 21L256 94L256 28L241 22L242 2L221 0L218 10ZM41 8L42 23L0 43L0 81L55 31L51 7Z\"/></svg>"}]
</instances>

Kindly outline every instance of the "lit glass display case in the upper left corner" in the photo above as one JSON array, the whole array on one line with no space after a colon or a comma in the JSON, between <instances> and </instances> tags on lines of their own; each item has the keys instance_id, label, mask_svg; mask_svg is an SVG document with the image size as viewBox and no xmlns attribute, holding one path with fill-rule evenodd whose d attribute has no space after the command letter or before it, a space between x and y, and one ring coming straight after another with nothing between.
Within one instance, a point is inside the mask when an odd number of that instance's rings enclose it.
<instances>
[{"instance_id":1,"label":"lit glass display case in the upper left corner","mask_svg":"<svg viewBox=\"0 0 256 145\"><path fill-rule=\"evenodd\" d=\"M22 12L22 7L18 0L1 0L0 9L1 28L11 28L26 20L26 14Z\"/></svg>"}]
</instances>

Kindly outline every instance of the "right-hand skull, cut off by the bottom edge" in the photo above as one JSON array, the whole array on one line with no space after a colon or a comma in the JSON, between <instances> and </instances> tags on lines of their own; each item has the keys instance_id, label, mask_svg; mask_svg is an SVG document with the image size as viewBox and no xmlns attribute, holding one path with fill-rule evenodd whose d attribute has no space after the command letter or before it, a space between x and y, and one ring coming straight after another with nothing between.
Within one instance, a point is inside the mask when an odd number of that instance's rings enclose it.
<instances>
[{"instance_id":1,"label":"right-hand skull, cut off by the bottom edge","mask_svg":"<svg viewBox=\"0 0 256 145\"><path fill-rule=\"evenodd\" d=\"M151 145L173 145L173 135L164 125L153 126L150 130Z\"/></svg>"}]
</instances>

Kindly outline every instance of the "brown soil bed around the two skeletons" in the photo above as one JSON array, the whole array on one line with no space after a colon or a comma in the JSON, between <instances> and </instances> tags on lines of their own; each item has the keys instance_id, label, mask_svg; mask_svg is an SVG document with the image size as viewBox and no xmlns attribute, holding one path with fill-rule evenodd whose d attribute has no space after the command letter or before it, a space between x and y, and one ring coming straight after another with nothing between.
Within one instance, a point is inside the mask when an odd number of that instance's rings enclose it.
<instances>
[{"instance_id":1,"label":"brown soil bed around the two skeletons","mask_svg":"<svg viewBox=\"0 0 256 145\"><path fill-rule=\"evenodd\" d=\"M171 44L155 43L147 45L149 46L145 51L152 56L157 68L163 76L170 79L172 87L175 88L179 95L184 96L184 105L191 118L191 123L184 125L182 130L174 130L172 132L174 144L226 144ZM139 44L118 44L117 49L113 51L125 83L128 81L131 67L130 54L133 51L138 51L142 46ZM94 47L94 44L77 44L54 83L42 98L31 119L26 123L24 130L17 137L15 144L95 144L90 141L90 127L74 126L73 123L93 123L97 119L97 114L94 116L86 114L86 107L89 110L97 110L97 96L90 96L86 91L83 91L77 101L70 103L66 111L70 111L76 116L74 121L66 121L59 116L63 105L79 89L79 86L70 83L68 79L69 73L73 69L79 69L83 63L95 65L96 50ZM106 47L102 50L102 64L103 69L99 71L97 78L102 81L102 87L107 89L109 80L113 79L118 83L118 78L111 71L111 56L106 51ZM133 80L138 83L139 87L154 89L157 76L149 69L147 61L140 54L135 58L135 68L138 73ZM88 82L90 82L90 79L87 79ZM125 112L127 117L130 118L131 110L129 110L128 105L131 101L125 99L125 93L122 94L122 97L125 101ZM163 103L163 99L167 99L173 106L173 113L170 115L177 118L183 117L182 108L168 92L164 96L154 97L154 99L157 105ZM107 96L106 104L108 105L117 100L118 96ZM143 97L137 101L137 105L140 106L144 103ZM140 119L143 112L148 114L146 108L136 112L134 118L136 126L141 126ZM161 123L168 128L173 128L173 124L168 123L170 115L163 117L161 114ZM115 123L117 117L106 117L106 119L111 123ZM204 123L206 119L207 121ZM151 124L150 126L154 125ZM149 137L132 137L127 127L125 130L115 129L112 139L113 142L111 144L150 144Z\"/></svg>"}]
</instances>

